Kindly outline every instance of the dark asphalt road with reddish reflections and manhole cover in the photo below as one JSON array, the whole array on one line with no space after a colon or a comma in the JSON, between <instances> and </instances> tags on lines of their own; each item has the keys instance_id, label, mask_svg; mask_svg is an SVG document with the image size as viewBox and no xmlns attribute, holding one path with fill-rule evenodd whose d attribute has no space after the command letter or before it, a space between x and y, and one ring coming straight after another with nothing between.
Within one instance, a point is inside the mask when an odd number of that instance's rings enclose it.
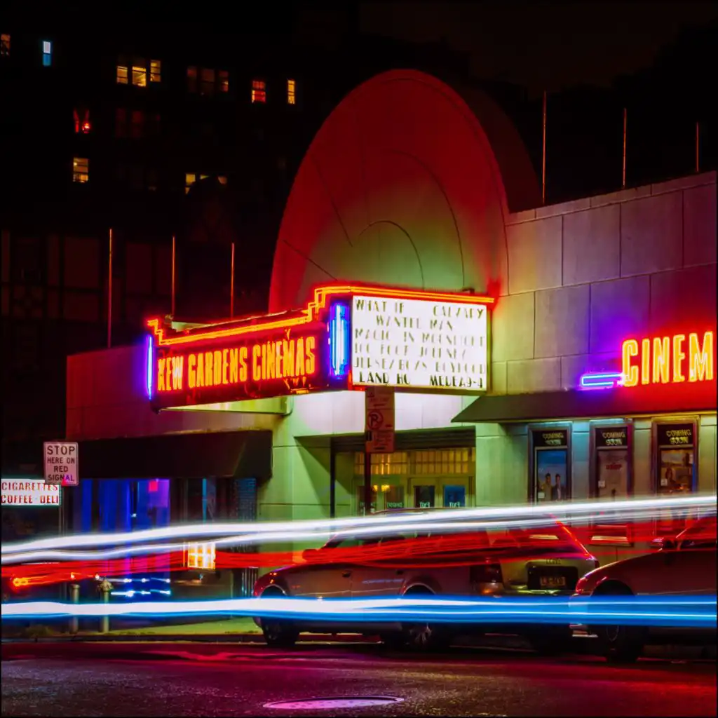
<instances>
[{"instance_id":1,"label":"dark asphalt road with reddish reflections and manhole cover","mask_svg":"<svg viewBox=\"0 0 718 718\"><path fill-rule=\"evenodd\" d=\"M715 716L715 663L378 645L4 646L4 716ZM271 701L393 696L375 707Z\"/></svg>"}]
</instances>

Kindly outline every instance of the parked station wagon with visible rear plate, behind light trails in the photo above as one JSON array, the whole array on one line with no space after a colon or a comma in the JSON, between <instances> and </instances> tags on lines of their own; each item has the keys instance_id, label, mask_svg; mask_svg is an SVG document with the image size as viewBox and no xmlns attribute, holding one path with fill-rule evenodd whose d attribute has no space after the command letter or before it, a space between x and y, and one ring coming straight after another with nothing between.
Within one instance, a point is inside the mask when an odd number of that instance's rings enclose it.
<instances>
[{"instance_id":1,"label":"parked station wagon with visible rear plate, behind light trails","mask_svg":"<svg viewBox=\"0 0 718 718\"><path fill-rule=\"evenodd\" d=\"M396 512L393 512L396 513ZM414 512L418 513L418 512ZM424 512L426 513L426 512ZM342 551L342 549L346 549ZM359 549L359 550L357 550ZM391 557L387 557L391 551ZM308 549L302 564L260 577L262 597L369 598L417 595L572 595L598 562L563 524L547 518L541 528L465 533L393 533L335 536L321 549ZM304 631L379 635L395 647L446 647L455 629L446 624L327 624L321 621L255 619L269 645L293 645ZM462 627L462 633L467 631ZM475 626L473 632L525 635L536 650L557 653L572 637L569 626Z\"/></svg>"}]
</instances>

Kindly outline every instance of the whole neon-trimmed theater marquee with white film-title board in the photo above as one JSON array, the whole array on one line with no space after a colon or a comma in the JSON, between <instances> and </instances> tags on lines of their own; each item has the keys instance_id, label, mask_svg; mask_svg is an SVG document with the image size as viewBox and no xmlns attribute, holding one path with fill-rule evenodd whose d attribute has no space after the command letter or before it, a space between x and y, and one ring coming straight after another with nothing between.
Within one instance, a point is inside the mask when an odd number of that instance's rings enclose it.
<instances>
[{"instance_id":1,"label":"whole neon-trimmed theater marquee with white film-title board","mask_svg":"<svg viewBox=\"0 0 718 718\"><path fill-rule=\"evenodd\" d=\"M481 393L490 297L326 286L304 309L185 328L148 322L154 409L334 391Z\"/></svg>"}]
</instances>

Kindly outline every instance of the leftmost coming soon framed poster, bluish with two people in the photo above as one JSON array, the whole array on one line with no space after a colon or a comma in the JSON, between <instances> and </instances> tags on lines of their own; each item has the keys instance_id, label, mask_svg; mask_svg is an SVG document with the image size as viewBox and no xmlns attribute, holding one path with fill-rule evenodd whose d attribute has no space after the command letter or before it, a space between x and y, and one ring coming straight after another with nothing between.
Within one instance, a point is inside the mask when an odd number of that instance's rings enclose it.
<instances>
[{"instance_id":1,"label":"leftmost coming soon framed poster, bluish with two people","mask_svg":"<svg viewBox=\"0 0 718 718\"><path fill-rule=\"evenodd\" d=\"M568 426L531 429L531 481L535 503L571 498L571 431Z\"/></svg>"}]
</instances>

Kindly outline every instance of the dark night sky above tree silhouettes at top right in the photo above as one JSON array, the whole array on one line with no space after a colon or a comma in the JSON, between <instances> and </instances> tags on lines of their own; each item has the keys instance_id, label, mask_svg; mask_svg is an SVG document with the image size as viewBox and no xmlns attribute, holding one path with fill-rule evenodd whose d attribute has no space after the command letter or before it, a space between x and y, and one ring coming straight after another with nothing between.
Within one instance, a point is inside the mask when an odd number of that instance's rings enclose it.
<instances>
[{"instance_id":1,"label":"dark night sky above tree silhouettes at top right","mask_svg":"<svg viewBox=\"0 0 718 718\"><path fill-rule=\"evenodd\" d=\"M370 1L364 32L414 41L445 38L470 52L480 77L526 86L532 95L579 83L608 85L650 67L681 27L718 20L709 0Z\"/></svg>"}]
</instances>

